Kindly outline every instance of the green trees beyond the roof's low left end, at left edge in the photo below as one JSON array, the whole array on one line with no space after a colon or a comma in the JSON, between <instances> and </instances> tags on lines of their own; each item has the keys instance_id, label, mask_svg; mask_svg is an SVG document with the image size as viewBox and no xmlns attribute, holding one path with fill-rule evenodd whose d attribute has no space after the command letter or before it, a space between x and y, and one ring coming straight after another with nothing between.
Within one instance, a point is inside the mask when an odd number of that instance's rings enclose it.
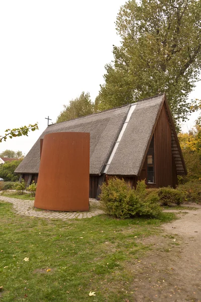
<instances>
[{"instance_id":1,"label":"green trees beyond the roof's low left end, at left edge","mask_svg":"<svg viewBox=\"0 0 201 302\"><path fill-rule=\"evenodd\" d=\"M0 177L2 177L5 181L17 181L19 179L19 175L15 175L15 169L20 165L22 160L6 162L3 165L0 165Z\"/></svg>"}]
</instances>

